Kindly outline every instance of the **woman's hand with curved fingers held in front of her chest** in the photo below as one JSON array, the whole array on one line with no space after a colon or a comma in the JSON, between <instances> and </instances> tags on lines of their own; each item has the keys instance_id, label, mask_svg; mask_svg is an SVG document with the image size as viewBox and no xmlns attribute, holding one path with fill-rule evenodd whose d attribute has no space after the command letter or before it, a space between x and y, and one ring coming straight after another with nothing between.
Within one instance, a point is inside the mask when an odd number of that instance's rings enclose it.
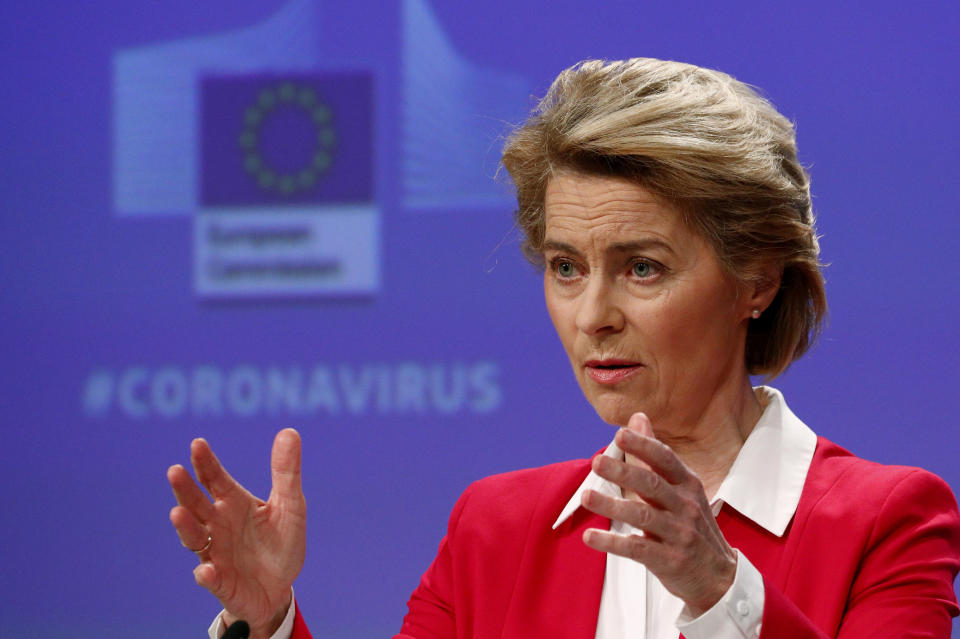
<instances>
[{"instance_id":1,"label":"woman's hand with curved fingers held in front of her chest","mask_svg":"<svg viewBox=\"0 0 960 639\"><path fill-rule=\"evenodd\" d=\"M669 446L653 437L646 415L633 415L615 441L649 468L598 455L593 470L620 486L624 495L634 493L642 501L588 490L582 503L598 515L642 530L643 535L591 528L583 541L595 550L639 561L699 616L733 583L736 553L717 526L700 479Z\"/></svg>"}]
</instances>

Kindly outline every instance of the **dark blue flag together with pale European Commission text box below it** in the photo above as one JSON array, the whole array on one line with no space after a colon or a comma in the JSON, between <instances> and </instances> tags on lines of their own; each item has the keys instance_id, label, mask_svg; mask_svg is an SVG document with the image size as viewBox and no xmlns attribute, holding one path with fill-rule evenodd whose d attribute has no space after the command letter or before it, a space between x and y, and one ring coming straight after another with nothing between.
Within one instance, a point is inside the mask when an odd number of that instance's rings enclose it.
<instances>
[{"instance_id":1,"label":"dark blue flag together with pale European Commission text box below it","mask_svg":"<svg viewBox=\"0 0 960 639\"><path fill-rule=\"evenodd\" d=\"M202 79L198 293L375 290L372 87L346 72Z\"/></svg>"}]
</instances>

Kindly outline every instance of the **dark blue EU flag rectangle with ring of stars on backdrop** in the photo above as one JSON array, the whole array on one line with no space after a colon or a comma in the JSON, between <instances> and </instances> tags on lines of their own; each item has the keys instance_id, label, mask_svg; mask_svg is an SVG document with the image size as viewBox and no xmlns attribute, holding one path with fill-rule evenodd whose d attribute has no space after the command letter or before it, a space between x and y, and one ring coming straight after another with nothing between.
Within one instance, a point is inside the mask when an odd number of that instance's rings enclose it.
<instances>
[{"instance_id":1,"label":"dark blue EU flag rectangle with ring of stars on backdrop","mask_svg":"<svg viewBox=\"0 0 960 639\"><path fill-rule=\"evenodd\" d=\"M204 78L201 205L371 202L372 88L364 72Z\"/></svg>"}]
</instances>

